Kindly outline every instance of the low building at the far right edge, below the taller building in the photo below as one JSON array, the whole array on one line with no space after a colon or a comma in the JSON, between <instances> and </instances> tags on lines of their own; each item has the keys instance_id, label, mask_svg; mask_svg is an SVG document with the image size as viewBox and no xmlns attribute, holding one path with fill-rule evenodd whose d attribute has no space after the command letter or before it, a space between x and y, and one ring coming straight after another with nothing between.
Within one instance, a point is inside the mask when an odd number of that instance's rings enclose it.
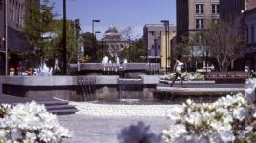
<instances>
[{"instance_id":1,"label":"low building at the far right edge, below the taller building","mask_svg":"<svg viewBox=\"0 0 256 143\"><path fill-rule=\"evenodd\" d=\"M256 8L244 12L245 65L256 70Z\"/></svg>"}]
</instances>

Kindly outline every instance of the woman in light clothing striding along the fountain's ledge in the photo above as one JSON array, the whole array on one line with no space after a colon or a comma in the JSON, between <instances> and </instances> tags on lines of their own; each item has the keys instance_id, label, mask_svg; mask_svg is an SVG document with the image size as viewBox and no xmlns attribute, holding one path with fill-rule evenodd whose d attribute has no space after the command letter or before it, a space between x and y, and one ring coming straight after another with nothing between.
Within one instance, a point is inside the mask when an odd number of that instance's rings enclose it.
<instances>
[{"instance_id":1,"label":"woman in light clothing striding along the fountain's ledge","mask_svg":"<svg viewBox=\"0 0 256 143\"><path fill-rule=\"evenodd\" d=\"M184 87L183 81L182 81L182 76L181 76L181 69L183 68L184 63L181 62L181 58L182 58L182 55L178 55L177 60L175 62L174 69L173 69L175 72L175 78L173 79L171 87L173 86L174 82L176 81L176 79L178 77L180 77L180 79L181 79L181 87Z\"/></svg>"}]
</instances>

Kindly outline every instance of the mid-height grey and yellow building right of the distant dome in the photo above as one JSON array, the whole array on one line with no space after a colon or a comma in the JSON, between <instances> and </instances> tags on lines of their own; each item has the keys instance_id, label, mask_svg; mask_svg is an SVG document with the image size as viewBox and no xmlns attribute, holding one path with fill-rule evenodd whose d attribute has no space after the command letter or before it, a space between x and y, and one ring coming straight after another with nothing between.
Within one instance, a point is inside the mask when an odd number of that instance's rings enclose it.
<instances>
[{"instance_id":1,"label":"mid-height grey and yellow building right of the distant dome","mask_svg":"<svg viewBox=\"0 0 256 143\"><path fill-rule=\"evenodd\" d=\"M143 28L143 45L147 48L147 59L149 62L160 63L162 68L171 66L172 47L170 41L176 36L176 27L169 26L168 33L162 24L147 24ZM167 51L166 51L167 36ZM167 52L167 57L166 57Z\"/></svg>"}]
</instances>

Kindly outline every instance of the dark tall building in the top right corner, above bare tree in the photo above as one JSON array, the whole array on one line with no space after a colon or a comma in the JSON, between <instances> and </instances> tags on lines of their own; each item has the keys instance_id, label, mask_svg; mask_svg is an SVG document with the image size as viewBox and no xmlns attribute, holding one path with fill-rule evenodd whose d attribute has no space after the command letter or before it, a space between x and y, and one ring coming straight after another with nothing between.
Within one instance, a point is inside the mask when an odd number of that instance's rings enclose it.
<instances>
[{"instance_id":1,"label":"dark tall building in the top right corner, above bare tree","mask_svg":"<svg viewBox=\"0 0 256 143\"><path fill-rule=\"evenodd\" d=\"M220 0L220 17L223 20L234 19L242 11L256 7L256 0Z\"/></svg>"}]
</instances>

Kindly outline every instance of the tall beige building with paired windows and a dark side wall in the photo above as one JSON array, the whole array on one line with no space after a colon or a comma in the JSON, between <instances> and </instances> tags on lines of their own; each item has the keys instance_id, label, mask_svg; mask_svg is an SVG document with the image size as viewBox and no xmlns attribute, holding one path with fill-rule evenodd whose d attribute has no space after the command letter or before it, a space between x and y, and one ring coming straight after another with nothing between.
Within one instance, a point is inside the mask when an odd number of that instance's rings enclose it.
<instances>
[{"instance_id":1,"label":"tall beige building with paired windows and a dark side wall","mask_svg":"<svg viewBox=\"0 0 256 143\"><path fill-rule=\"evenodd\" d=\"M219 0L176 0L176 8L178 43L219 19Z\"/></svg>"}]
</instances>

